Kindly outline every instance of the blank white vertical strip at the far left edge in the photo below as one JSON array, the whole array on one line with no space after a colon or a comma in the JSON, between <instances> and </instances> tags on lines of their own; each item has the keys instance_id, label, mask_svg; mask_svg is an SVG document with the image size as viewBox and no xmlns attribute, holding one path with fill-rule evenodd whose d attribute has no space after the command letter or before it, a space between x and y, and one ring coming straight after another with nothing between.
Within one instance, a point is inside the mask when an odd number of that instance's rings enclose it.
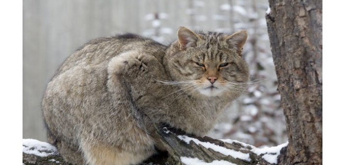
<instances>
[{"instance_id":1,"label":"blank white vertical strip at the far left edge","mask_svg":"<svg viewBox=\"0 0 345 165\"><path fill-rule=\"evenodd\" d=\"M21 165L23 138L23 2L0 3L1 164Z\"/></svg>"}]
</instances>

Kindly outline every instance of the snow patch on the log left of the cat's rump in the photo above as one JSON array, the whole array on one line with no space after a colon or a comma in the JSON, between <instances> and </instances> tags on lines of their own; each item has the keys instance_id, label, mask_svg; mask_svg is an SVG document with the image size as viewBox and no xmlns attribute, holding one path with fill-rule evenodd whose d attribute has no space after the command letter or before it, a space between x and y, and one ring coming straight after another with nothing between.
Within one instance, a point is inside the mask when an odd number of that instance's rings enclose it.
<instances>
[{"instance_id":1,"label":"snow patch on the log left of the cat's rump","mask_svg":"<svg viewBox=\"0 0 345 165\"><path fill-rule=\"evenodd\" d=\"M32 138L23 139L23 152L26 154L34 154L40 157L58 154L57 148L55 148L53 145Z\"/></svg>"}]
</instances>

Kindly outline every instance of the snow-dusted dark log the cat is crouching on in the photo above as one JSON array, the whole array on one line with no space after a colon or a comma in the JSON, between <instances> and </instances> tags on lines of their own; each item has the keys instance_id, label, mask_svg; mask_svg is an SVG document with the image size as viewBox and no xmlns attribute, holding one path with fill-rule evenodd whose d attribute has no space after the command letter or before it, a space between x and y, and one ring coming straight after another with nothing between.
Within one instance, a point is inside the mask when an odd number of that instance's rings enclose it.
<instances>
[{"instance_id":1,"label":"snow-dusted dark log the cat is crouching on","mask_svg":"<svg viewBox=\"0 0 345 165\"><path fill-rule=\"evenodd\" d=\"M141 165L275 165L288 143L257 148L231 139L213 139L185 134L168 126L156 126L168 152L154 155ZM69 165L49 143L23 139L23 164Z\"/></svg>"}]
</instances>

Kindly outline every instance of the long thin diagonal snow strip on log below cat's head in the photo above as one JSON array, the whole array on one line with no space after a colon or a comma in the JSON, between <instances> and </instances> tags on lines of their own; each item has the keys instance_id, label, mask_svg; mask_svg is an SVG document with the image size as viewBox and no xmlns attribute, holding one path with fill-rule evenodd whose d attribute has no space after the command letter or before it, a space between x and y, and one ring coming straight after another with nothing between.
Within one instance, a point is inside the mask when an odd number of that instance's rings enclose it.
<instances>
[{"instance_id":1,"label":"long thin diagonal snow strip on log below cat's head","mask_svg":"<svg viewBox=\"0 0 345 165\"><path fill-rule=\"evenodd\" d=\"M228 148L225 148L225 147L222 147L222 146L210 143L210 142L202 142L196 138L190 138L190 137L187 137L185 135L183 135L183 136L179 135L177 137L180 138L181 140L185 141L187 144L189 144L190 141L194 141L198 145L201 144L205 148L211 148L214 151L220 152L223 155L230 155L235 159L239 158L242 160L251 161L249 154L245 154L242 152L231 150L231 149L228 149Z\"/></svg>"}]
</instances>

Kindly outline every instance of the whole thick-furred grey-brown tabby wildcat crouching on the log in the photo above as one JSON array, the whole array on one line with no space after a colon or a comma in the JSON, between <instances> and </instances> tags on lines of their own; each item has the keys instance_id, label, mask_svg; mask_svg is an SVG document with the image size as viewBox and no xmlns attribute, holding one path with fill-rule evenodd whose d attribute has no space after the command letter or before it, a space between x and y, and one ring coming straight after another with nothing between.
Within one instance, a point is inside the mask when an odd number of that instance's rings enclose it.
<instances>
[{"instance_id":1,"label":"whole thick-furred grey-brown tabby wildcat crouching on the log","mask_svg":"<svg viewBox=\"0 0 345 165\"><path fill-rule=\"evenodd\" d=\"M249 81L247 32L177 31L170 46L135 34L93 39L48 83L48 141L74 165L137 165L160 148L152 123L203 136Z\"/></svg>"}]
</instances>

